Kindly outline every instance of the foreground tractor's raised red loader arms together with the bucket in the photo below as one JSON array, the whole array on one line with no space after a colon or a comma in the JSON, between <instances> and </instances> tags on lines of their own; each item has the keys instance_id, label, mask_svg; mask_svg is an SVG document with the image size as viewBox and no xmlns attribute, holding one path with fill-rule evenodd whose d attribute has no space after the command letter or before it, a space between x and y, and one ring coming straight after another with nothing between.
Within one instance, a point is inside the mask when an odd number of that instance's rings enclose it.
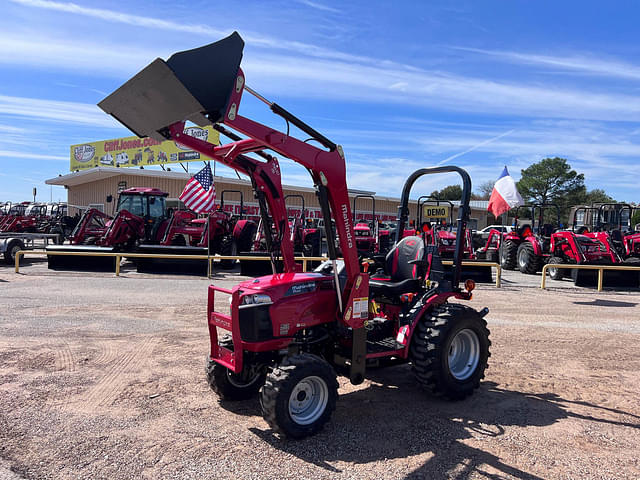
<instances>
[{"instance_id":1,"label":"foreground tractor's raised red loader arms together with the bucket","mask_svg":"<svg viewBox=\"0 0 640 480\"><path fill-rule=\"evenodd\" d=\"M331 232L333 213L344 257L344 288L336 274L340 304L338 317L350 327L360 329L364 325L366 312L352 316L355 312L353 302L355 299L362 302L368 297L368 276L360 274L342 148L246 86L240 68L243 48L243 40L233 33L204 47L178 52L166 62L156 59L100 102L99 106L140 137L174 140L248 175L261 205L263 226L269 224L264 221L264 206L268 205L273 218L276 240L279 242L276 246L281 248L285 272L295 272L298 267L293 260L293 245L287 234L290 231L280 166L277 159L266 154L265 150L274 151L304 166L316 186L329 231L329 256L332 260L337 256L335 236ZM245 90L266 103L273 113L286 120L287 125L300 128L310 135L311 140L319 142L327 150L294 138L289 135L288 129L287 133L283 133L239 115ZM248 138L240 139L238 136L231 143L216 146L185 134L186 120L201 126L213 123L219 131L224 130L224 127L219 128L219 124L224 124ZM265 160L248 157L249 153L256 153ZM265 237L268 239L269 235Z\"/></svg>"}]
</instances>

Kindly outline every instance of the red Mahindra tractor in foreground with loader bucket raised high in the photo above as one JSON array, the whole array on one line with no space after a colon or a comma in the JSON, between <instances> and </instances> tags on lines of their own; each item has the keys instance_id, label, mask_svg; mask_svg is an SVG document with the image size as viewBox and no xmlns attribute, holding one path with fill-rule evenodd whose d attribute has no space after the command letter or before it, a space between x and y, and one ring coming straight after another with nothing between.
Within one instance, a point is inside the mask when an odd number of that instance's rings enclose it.
<instances>
[{"instance_id":1,"label":"red Mahindra tractor in foreground with loader bucket raised high","mask_svg":"<svg viewBox=\"0 0 640 480\"><path fill-rule=\"evenodd\" d=\"M265 238L272 257L282 255L282 271L273 262L272 275L230 290L209 286L209 384L230 400L259 392L268 424L294 438L315 434L329 420L338 396L337 374L359 384L369 367L410 361L426 388L454 399L471 394L487 366L490 342L483 317L488 310L450 302L470 300L473 288L472 282L460 288L459 266L469 218L469 175L452 166L418 170L404 186L398 211L397 231L402 232L415 180L460 174L457 267L451 275L442 274L437 250L425 247L422 238L396 234L387 255L389 277L370 279L358 260L342 148L246 85L240 68L243 46L233 33L166 62L157 59L99 104L139 136L179 141L247 175L265 227L270 230L273 222L274 232ZM240 115L244 93L265 102L323 148ZM186 119L224 123L246 138L216 146L184 134ZM315 272L301 272L294 261L279 162L267 151L303 165L313 179L330 258ZM343 261L337 259L336 237ZM220 301L221 294L230 302ZM221 330L231 335L221 336Z\"/></svg>"}]
</instances>

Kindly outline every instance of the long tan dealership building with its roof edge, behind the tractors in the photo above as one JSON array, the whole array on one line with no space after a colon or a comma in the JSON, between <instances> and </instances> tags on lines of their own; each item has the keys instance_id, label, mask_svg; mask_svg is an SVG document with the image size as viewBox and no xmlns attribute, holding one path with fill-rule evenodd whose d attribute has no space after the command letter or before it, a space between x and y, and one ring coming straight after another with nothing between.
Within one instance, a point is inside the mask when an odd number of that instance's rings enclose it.
<instances>
[{"instance_id":1,"label":"long tan dealership building with its roof edge, behind the tractors","mask_svg":"<svg viewBox=\"0 0 640 480\"><path fill-rule=\"evenodd\" d=\"M119 192L130 187L154 187L167 192L168 198L177 199L184 189L192 174L187 172L144 169L144 168L121 168L110 166L97 166L84 170L59 175L46 181L47 185L64 186L67 190L67 202L71 215L80 212L87 207L98 208L107 214L112 214L115 203L108 204L107 197L117 198ZM253 196L251 183L248 180L214 177L216 187L217 202L220 203L224 193L225 210L235 214L240 213L240 199L244 203L245 214L257 216L258 203ZM295 195L287 200L290 213L299 211L304 199L304 206L311 217L320 217L320 208L315 195L315 190L308 187L293 185L283 185L285 195ZM375 198L376 217L382 221L395 220L398 212L399 198L375 195L375 192L350 190L351 206L353 199L357 195L373 195ZM356 199L356 218L371 218L372 201L369 198ZM454 204L458 202L453 202ZM471 202L471 224L472 228L483 228L489 220L487 214L486 201ZM417 201L412 200L409 205L410 218L417 216ZM454 218L457 216L457 208L454 207Z\"/></svg>"}]
</instances>

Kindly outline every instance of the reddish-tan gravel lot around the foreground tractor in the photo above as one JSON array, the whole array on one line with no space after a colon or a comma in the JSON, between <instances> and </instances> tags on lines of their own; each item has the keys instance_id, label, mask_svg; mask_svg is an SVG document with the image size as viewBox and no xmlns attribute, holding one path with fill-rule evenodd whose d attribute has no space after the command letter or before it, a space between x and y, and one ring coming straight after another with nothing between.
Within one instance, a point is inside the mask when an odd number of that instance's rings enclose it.
<instances>
[{"instance_id":1,"label":"reddish-tan gravel lot around the foreground tractor","mask_svg":"<svg viewBox=\"0 0 640 480\"><path fill-rule=\"evenodd\" d=\"M204 380L207 279L22 271L0 267L0 479L640 478L637 292L482 286L493 346L472 398L374 371L341 380L321 434L286 441Z\"/></svg>"}]
</instances>

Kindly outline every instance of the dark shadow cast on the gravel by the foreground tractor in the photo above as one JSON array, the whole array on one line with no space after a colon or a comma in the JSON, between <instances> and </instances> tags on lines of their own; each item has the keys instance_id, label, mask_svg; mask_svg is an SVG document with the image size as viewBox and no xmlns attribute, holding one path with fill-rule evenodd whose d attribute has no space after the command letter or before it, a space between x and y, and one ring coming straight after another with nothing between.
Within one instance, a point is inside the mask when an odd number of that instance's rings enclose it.
<instances>
[{"instance_id":1,"label":"dark shadow cast on the gravel by the foreground tractor","mask_svg":"<svg viewBox=\"0 0 640 480\"><path fill-rule=\"evenodd\" d=\"M564 400L556 394L509 390L493 382L483 382L479 391L464 401L449 402L423 392L407 366L370 372L369 378L372 384L368 388L340 395L332 420L314 437L296 441L280 438L271 430L251 430L274 448L335 473L341 470L330 462L366 464L431 453L426 463L406 478L449 475L466 479L480 473L489 478L510 475L537 480L540 477L507 465L463 440L482 441L504 435L508 427L543 427L570 417L640 428L640 417L626 412ZM624 423L577 414L569 410L571 404L638 421ZM259 406L250 410L259 412ZM526 448L526 444L522 446ZM500 473L496 475L496 471Z\"/></svg>"}]
</instances>

